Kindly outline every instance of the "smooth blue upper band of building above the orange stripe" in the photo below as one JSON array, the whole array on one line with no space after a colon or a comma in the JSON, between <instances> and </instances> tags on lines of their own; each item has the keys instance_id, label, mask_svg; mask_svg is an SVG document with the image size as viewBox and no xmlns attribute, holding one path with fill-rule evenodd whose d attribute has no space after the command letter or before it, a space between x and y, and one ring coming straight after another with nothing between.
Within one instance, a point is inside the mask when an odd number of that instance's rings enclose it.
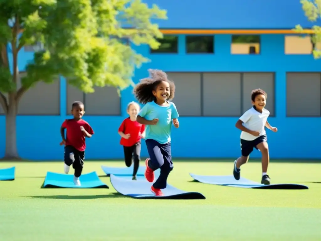
<instances>
[{"instance_id":1,"label":"smooth blue upper band of building above the orange stripe","mask_svg":"<svg viewBox=\"0 0 321 241\"><path fill-rule=\"evenodd\" d=\"M292 29L309 28L299 0L143 0L167 10L160 28ZM318 20L320 25L321 20Z\"/></svg>"}]
</instances>

